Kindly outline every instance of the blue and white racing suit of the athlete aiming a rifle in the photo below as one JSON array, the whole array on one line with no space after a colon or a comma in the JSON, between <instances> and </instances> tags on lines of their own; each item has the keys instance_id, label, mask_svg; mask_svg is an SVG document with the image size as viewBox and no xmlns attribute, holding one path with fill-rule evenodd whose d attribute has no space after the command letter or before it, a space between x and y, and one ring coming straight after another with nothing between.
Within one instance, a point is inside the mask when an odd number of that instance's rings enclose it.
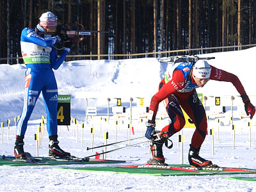
<instances>
[{"instance_id":1,"label":"blue and white racing suit of the athlete aiming a rifle","mask_svg":"<svg viewBox=\"0 0 256 192\"><path fill-rule=\"evenodd\" d=\"M24 106L17 124L17 136L25 135L28 120L41 92L47 112L47 132L49 136L57 135L58 87L52 68L58 69L70 51L65 48L58 58L54 49L58 41L57 36L48 35L44 38L39 36L35 29L22 30L20 47L27 70Z\"/></svg>"}]
</instances>

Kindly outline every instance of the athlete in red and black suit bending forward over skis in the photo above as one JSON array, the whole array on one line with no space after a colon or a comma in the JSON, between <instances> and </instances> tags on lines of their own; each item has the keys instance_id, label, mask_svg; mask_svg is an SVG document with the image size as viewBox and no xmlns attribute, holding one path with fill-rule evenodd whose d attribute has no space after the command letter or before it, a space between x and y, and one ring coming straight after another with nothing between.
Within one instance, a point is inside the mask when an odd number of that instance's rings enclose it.
<instances>
[{"instance_id":1,"label":"athlete in red and black suit bending forward over skis","mask_svg":"<svg viewBox=\"0 0 256 192\"><path fill-rule=\"evenodd\" d=\"M196 127L189 148L189 164L196 167L216 166L211 161L199 156L200 147L207 134L207 118L195 89L203 87L210 79L232 83L241 95L246 114L250 115L251 119L253 118L255 107L250 102L237 76L209 65L206 60L175 63L171 70L166 72L164 79L159 84L159 92L152 97L150 102L150 117L148 118L145 137L150 140L153 159L150 159L148 163L164 164L163 144L168 141L170 136L184 127L185 119L182 113L182 109L184 109ZM163 127L160 132L156 132L155 119L159 102L162 100L166 104L166 111L172 122ZM168 147L167 144L166 147Z\"/></svg>"}]
</instances>

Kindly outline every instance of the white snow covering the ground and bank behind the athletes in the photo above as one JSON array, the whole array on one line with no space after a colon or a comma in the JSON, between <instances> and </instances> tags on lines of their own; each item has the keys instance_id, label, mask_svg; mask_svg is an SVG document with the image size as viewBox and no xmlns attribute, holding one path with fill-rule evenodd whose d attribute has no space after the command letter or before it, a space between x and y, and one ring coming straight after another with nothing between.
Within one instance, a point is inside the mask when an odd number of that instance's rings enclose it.
<instances>
[{"instance_id":1,"label":"white snow covering the ground and bank behind the athletes","mask_svg":"<svg viewBox=\"0 0 256 192\"><path fill-rule=\"evenodd\" d=\"M255 92L255 63L251 60L256 47L243 51L220 52L216 54L205 54L203 56L215 56L215 60L209 63L215 67L222 68L228 72L236 74L244 85L252 103L256 104ZM109 132L108 143L116 141L115 116L110 116L109 122L105 122L107 99L110 98L110 107L116 106L116 99L122 99L122 106L126 107L127 113L130 108L130 98L132 102L132 127L134 135L131 138L143 136L145 132L145 118L140 122L136 110L138 97L145 98L145 107L148 106L150 99L157 92L158 84L164 75L168 66L159 63L156 58L143 58L131 60L100 60L100 61L69 61L63 63L56 70L56 79L59 88L59 94L71 95L71 116L79 122L77 125L59 127L59 140L61 148L67 150L74 156L84 157L102 152L102 149L86 150L92 146L91 128L95 128L94 146L104 144L103 133ZM23 87L24 87L24 65L0 65L0 122L4 123L3 143L0 143L0 155L12 156L13 145L15 142L15 126L13 118L20 115L23 105ZM105 113L103 120L100 115L88 118L88 124L84 128L83 147L81 146L80 124L85 121L85 99L77 99L77 92L86 92L83 94L94 95L94 99L88 99L88 106L97 106L98 113ZM212 136L208 135L205 139L200 155L205 159L210 159L214 164L227 167L241 167L256 169L256 131L255 117L248 127L248 118L240 119L244 116L243 103L236 89L230 83L220 83L209 81L204 88L198 88L198 93L204 93L208 97L206 101L207 115L209 115L209 129L214 129L214 154L212 154ZM97 95L95 96L95 93ZM236 125L235 145L234 132L230 122L230 106L234 100L234 124ZM222 106L227 106L227 113L218 115L220 124L216 122L214 116L220 111L214 106L214 97L221 97ZM142 108L144 110L144 108ZM163 110L160 108L159 110ZM145 110L144 110L145 111ZM159 111L159 114L160 111ZM42 97L36 103L35 110L29 121L29 126L25 136L24 148L33 156L36 155L34 135L41 120L41 115L45 116L45 107ZM10 119L9 130L6 127L6 121ZM116 119L117 141L127 140L129 138L130 123L129 114L125 117ZM168 118L157 121L157 129L161 129L168 124ZM100 128L101 127L101 128ZM219 127L219 129L218 129ZM1 130L1 127L0 127ZM185 136L184 141L184 159L183 163L188 164L188 150L194 129L184 128L181 133ZM1 132L0 132L1 133ZM2 138L2 134L1 138ZM47 132L44 134L44 140L39 149L40 156L47 156L48 138ZM163 148L166 163L179 164L182 162L181 147L178 146L177 135L172 137L174 146L172 149ZM2 140L1 140L2 141ZM140 143L147 141L145 138L131 141ZM118 143L108 150L119 147L125 147L128 143ZM143 143L135 147L117 150L106 155L107 159L140 159L129 164L146 163L150 157L148 154L148 143ZM102 157L102 156L101 156ZM109 166L110 164L99 165L67 165L67 167L76 166ZM115 166L115 164L111 164ZM7 167L0 166L0 191L256 191L255 182L236 181L225 179L234 175L209 175L209 176L173 176L173 177L154 177L148 175L129 175L103 172L80 172L58 169L66 166L22 166ZM253 177L253 175L242 175L244 177Z\"/></svg>"}]
</instances>

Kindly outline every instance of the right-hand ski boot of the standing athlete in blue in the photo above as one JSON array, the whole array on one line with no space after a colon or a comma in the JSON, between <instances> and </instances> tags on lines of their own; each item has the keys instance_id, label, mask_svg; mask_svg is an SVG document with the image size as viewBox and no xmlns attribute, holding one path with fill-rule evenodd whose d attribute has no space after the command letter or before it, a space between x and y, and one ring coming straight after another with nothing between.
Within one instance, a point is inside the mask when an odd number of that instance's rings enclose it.
<instances>
[{"instance_id":1,"label":"right-hand ski boot of the standing athlete in blue","mask_svg":"<svg viewBox=\"0 0 256 192\"><path fill-rule=\"evenodd\" d=\"M59 141L57 140L58 136L49 136L49 156L50 157L70 157L70 153L65 152L58 145Z\"/></svg>"}]
</instances>

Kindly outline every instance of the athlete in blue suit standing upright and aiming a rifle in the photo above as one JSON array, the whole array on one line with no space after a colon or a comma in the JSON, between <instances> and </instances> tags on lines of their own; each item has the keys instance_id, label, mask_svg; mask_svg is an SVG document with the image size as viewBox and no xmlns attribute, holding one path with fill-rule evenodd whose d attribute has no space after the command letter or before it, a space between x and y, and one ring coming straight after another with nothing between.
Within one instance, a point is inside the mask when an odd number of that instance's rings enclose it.
<instances>
[{"instance_id":1,"label":"athlete in blue suit standing upright and aiming a rifle","mask_svg":"<svg viewBox=\"0 0 256 192\"><path fill-rule=\"evenodd\" d=\"M56 32L57 17L51 13L43 13L40 23L36 26L40 33ZM24 28L20 36L22 58L26 64L26 83L24 93L24 106L17 124L16 141L14 154L16 158L26 159L24 153L24 135L27 129L28 120L35 107L36 100L42 92L45 108L47 111L47 132L49 134L49 155L50 156L70 156L70 153L63 151L57 140L57 105L58 87L54 77L55 70L58 69L70 51L70 44L65 45L65 49L58 58L54 49L56 43L60 42L60 36L38 35L35 29Z\"/></svg>"}]
</instances>

